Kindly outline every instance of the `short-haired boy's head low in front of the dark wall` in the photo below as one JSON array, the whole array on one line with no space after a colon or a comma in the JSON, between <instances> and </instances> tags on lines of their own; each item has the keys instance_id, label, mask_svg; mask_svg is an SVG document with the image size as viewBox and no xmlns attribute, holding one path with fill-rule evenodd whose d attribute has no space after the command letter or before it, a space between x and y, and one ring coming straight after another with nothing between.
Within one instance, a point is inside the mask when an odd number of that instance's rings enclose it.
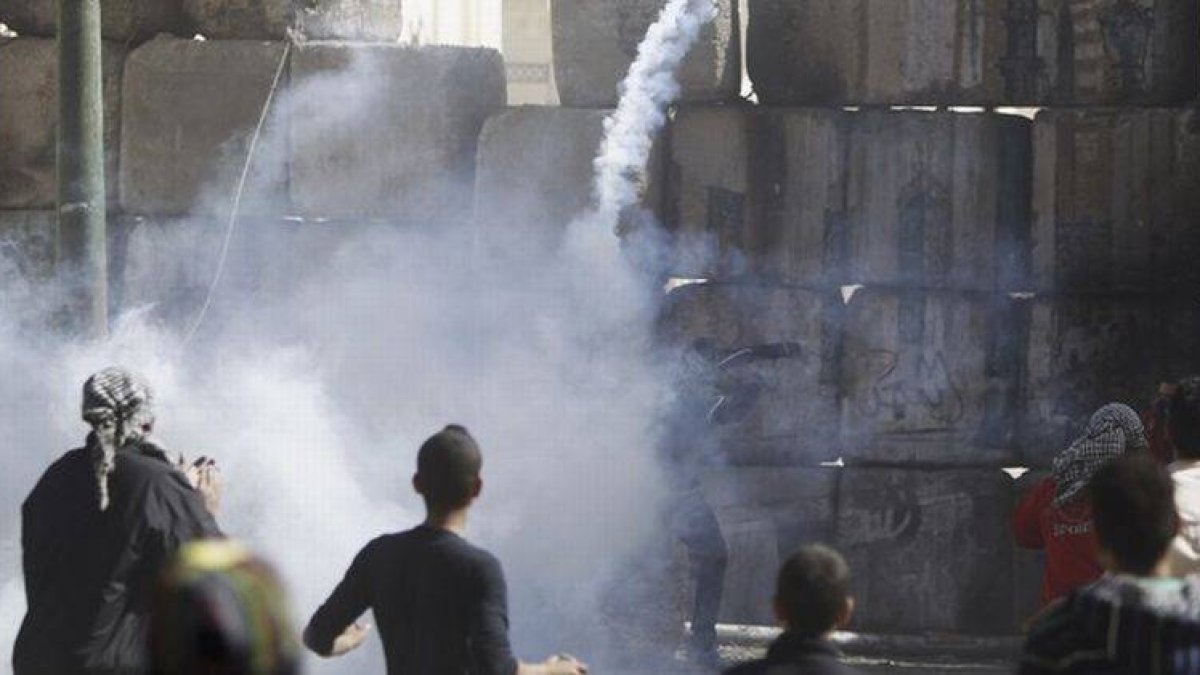
<instances>
[{"instance_id":1,"label":"short-haired boy's head low in front of the dark wall","mask_svg":"<svg viewBox=\"0 0 1200 675\"><path fill-rule=\"evenodd\" d=\"M784 562L775 585L775 616L802 638L820 638L845 627L854 611L850 566L838 551L800 546Z\"/></svg>"}]
</instances>

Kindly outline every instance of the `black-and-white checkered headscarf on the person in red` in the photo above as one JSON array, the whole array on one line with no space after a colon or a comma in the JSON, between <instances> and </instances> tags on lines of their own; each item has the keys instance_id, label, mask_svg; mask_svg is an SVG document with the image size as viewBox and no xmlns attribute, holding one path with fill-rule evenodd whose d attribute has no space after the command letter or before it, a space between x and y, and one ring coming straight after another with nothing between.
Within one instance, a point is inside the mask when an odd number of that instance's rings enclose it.
<instances>
[{"instance_id":1,"label":"black-and-white checkered headscarf on the person in red","mask_svg":"<svg viewBox=\"0 0 1200 675\"><path fill-rule=\"evenodd\" d=\"M1055 506L1082 496L1096 472L1109 461L1147 447L1146 429L1132 407L1109 404L1096 411L1084 435L1054 460Z\"/></svg>"}]
</instances>

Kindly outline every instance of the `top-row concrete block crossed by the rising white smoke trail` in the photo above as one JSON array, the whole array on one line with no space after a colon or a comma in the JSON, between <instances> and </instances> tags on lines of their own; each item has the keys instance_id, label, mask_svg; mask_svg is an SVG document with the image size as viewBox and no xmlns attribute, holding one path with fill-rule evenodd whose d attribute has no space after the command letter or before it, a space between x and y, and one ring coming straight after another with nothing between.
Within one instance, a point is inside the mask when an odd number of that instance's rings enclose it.
<instances>
[{"instance_id":1,"label":"top-row concrete block crossed by the rising white smoke trail","mask_svg":"<svg viewBox=\"0 0 1200 675\"><path fill-rule=\"evenodd\" d=\"M715 4L716 20L701 31L678 73L680 101L731 101L740 91L738 4ZM665 5L666 0L552 0L554 80L563 106L616 106L618 85Z\"/></svg>"}]
</instances>

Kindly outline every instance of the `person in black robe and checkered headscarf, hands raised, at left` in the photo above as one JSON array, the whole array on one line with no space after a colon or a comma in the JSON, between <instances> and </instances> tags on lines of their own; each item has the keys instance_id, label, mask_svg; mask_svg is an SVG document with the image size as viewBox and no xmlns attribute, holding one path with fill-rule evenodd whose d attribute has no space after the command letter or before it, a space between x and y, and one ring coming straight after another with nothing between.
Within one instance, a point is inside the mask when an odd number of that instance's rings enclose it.
<instances>
[{"instance_id":1,"label":"person in black robe and checkered headscarf, hands raised, at left","mask_svg":"<svg viewBox=\"0 0 1200 675\"><path fill-rule=\"evenodd\" d=\"M144 381L121 369L94 375L83 417L86 444L50 465L22 508L28 611L16 675L145 673L160 571L184 543L221 534L215 468L185 473L150 442Z\"/></svg>"}]
</instances>

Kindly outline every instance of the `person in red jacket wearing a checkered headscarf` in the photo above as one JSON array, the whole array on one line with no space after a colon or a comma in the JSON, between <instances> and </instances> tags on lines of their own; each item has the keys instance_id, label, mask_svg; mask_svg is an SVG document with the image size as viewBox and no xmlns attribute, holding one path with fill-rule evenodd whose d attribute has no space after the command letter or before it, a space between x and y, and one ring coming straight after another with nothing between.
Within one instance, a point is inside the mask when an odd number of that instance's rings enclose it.
<instances>
[{"instance_id":1,"label":"person in red jacket wearing a checkered headscarf","mask_svg":"<svg viewBox=\"0 0 1200 675\"><path fill-rule=\"evenodd\" d=\"M1054 460L1049 478L1025 495L1013 516L1016 545L1045 549L1042 605L1100 578L1087 485L1109 461L1146 449L1141 418L1127 405L1096 411L1082 436Z\"/></svg>"}]
</instances>

